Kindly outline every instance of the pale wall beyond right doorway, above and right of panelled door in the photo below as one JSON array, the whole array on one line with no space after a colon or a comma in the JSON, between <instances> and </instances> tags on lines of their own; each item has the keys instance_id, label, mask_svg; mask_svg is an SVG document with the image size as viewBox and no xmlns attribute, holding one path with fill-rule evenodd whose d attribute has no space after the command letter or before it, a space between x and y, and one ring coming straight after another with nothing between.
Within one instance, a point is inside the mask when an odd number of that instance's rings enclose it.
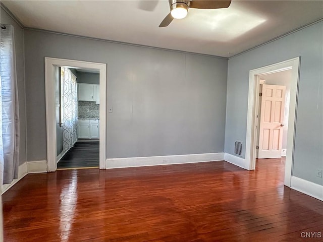
<instances>
[{"instance_id":1,"label":"pale wall beyond right doorway, above and right of panelled door","mask_svg":"<svg viewBox=\"0 0 323 242\"><path fill-rule=\"evenodd\" d=\"M260 76L262 80L266 81L266 84L280 85L286 87L285 92L285 109L284 109L284 130L283 130L283 144L282 150L287 149L287 132L288 132L288 114L289 114L289 101L291 97L291 79L292 70L283 72L276 72L267 75Z\"/></svg>"}]
</instances>

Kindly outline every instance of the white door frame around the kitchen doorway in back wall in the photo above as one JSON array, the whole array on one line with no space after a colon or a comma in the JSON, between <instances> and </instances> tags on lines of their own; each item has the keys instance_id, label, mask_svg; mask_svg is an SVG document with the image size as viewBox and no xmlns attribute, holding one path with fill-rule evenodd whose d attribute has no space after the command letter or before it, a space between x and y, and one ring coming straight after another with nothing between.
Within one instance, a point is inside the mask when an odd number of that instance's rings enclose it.
<instances>
[{"instance_id":1,"label":"white door frame around the kitchen doorway in back wall","mask_svg":"<svg viewBox=\"0 0 323 242\"><path fill-rule=\"evenodd\" d=\"M72 59L45 57L45 101L46 101L46 138L47 138L47 171L57 170L56 147L56 109L55 109L55 67L86 68L99 71L100 107L99 107L99 168L105 169L105 128L106 128L106 64L83 62Z\"/></svg>"}]
</instances>

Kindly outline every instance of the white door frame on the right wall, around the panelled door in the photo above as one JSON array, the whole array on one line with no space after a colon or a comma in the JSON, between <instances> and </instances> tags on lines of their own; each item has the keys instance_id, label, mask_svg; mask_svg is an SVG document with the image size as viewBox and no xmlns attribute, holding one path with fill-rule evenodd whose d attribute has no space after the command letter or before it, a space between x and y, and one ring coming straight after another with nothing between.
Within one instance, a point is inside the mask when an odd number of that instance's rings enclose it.
<instances>
[{"instance_id":1,"label":"white door frame on the right wall, around the panelled door","mask_svg":"<svg viewBox=\"0 0 323 242\"><path fill-rule=\"evenodd\" d=\"M286 71L292 69L291 93L289 103L289 120L287 132L287 152L285 161L284 184L291 186L293 155L294 155L294 135L295 135L295 117L298 94L300 57L288 59L287 61L273 65L253 69L249 72L249 94L248 94L248 112L247 112L247 138L246 138L246 169L254 170L256 165L256 145L258 129L256 113L259 107L259 80L261 75Z\"/></svg>"}]
</instances>

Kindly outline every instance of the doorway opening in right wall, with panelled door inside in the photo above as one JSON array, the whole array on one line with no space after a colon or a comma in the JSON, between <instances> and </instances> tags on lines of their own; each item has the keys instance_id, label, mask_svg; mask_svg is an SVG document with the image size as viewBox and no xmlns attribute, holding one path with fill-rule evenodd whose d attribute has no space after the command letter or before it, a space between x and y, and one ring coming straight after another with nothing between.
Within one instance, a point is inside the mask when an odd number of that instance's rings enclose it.
<instances>
[{"instance_id":1,"label":"doorway opening in right wall, with panelled door inside","mask_svg":"<svg viewBox=\"0 0 323 242\"><path fill-rule=\"evenodd\" d=\"M260 76L256 158L286 156L292 69Z\"/></svg>"}]
</instances>

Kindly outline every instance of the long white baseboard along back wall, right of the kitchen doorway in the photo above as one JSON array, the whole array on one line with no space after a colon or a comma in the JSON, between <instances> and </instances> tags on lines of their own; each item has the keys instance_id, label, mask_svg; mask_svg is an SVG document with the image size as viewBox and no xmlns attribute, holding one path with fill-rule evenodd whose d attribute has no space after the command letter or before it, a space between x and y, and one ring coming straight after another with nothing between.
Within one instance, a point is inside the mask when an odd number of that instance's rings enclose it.
<instances>
[{"instance_id":1,"label":"long white baseboard along back wall, right of the kitchen doorway","mask_svg":"<svg viewBox=\"0 0 323 242\"><path fill-rule=\"evenodd\" d=\"M166 155L149 157L110 158L105 160L106 169L140 167L153 165L186 164L208 161L220 161L224 159L224 153L190 154L190 155Z\"/></svg>"}]
</instances>

